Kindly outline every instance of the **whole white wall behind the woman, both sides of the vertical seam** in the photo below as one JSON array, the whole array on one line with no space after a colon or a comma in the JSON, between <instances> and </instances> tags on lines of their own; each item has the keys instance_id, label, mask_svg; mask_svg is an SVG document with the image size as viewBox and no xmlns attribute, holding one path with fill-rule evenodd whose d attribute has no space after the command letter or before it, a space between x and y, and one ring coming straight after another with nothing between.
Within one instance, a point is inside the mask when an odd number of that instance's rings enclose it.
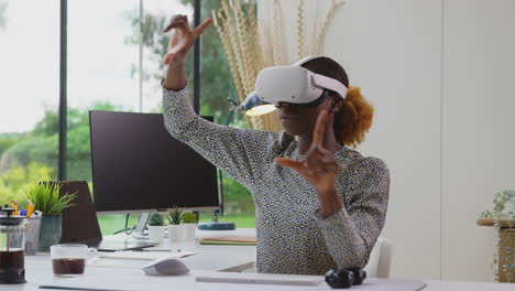
<instances>
[{"instance_id":1,"label":"whole white wall behind the woman, both sides of the vertical seam","mask_svg":"<svg viewBox=\"0 0 515 291\"><path fill-rule=\"evenodd\" d=\"M304 2L310 30L330 1ZM280 3L293 63L298 0ZM272 1L259 6L270 24ZM359 150L392 174L394 278L492 281L493 231L475 218L515 187L513 12L509 0L350 0L335 13L324 54L375 106Z\"/></svg>"}]
</instances>

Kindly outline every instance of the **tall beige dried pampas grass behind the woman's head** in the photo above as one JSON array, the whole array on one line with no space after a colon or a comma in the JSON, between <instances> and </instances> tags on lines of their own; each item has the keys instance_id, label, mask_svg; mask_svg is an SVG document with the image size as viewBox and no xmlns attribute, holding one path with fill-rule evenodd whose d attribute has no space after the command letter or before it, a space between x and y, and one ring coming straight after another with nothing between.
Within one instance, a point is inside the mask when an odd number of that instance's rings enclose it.
<instances>
[{"instance_id":1,"label":"tall beige dried pampas grass behind the woman's head","mask_svg":"<svg viewBox=\"0 0 515 291\"><path fill-rule=\"evenodd\" d=\"M244 1L244 0L243 0ZM234 85L238 99L243 101L254 90L255 78L261 69L269 66L288 65L288 57L283 44L282 9L278 0L272 0L272 19L260 30L252 0L221 0L221 9L211 11ZM326 31L338 7L344 0L331 0L331 6L320 28L314 25L311 40L306 47L304 0L297 7L297 58L320 54L320 44L325 41ZM246 11L246 12L245 12ZM316 10L318 18L318 6ZM272 23L267 25L266 23ZM276 111L259 117L245 117L248 127L270 131L282 130Z\"/></svg>"}]
</instances>

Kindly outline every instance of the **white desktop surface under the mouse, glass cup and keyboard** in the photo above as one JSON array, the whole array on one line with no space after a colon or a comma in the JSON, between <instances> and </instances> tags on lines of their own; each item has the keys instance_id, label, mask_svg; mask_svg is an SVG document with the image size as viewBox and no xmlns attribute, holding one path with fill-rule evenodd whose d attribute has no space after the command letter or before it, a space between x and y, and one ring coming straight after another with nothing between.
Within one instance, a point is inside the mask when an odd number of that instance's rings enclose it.
<instances>
[{"instance_id":1,"label":"white desktop surface under the mouse, glass cup and keyboard","mask_svg":"<svg viewBox=\"0 0 515 291\"><path fill-rule=\"evenodd\" d=\"M218 231L197 230L198 238L217 236ZM240 228L235 231L221 231L221 235L253 235L254 229ZM198 241L198 239L197 239ZM248 269L255 261L254 246L211 246L198 244L163 244L156 248L182 248L184 250L199 250L200 254L184 258L191 273L180 277L151 277L145 276L140 267L147 261L98 259L97 262L86 267L86 273L79 278L56 278L52 274L52 265L48 254L25 257L25 278L28 283L15 285L0 285L0 291L28 291L42 290L41 284L72 284L89 288L106 288L117 290L209 290L209 291L293 291L293 290L331 290L326 283L318 287L288 287L263 284L235 284L235 283L204 283L195 282L195 274L210 273L213 271ZM385 279L368 279L369 284L379 283ZM423 280L427 283L424 291L514 291L515 285L509 283L489 282L453 282ZM369 285L370 288L370 285ZM365 284L353 287L350 290L370 290ZM377 290L377 289L374 289Z\"/></svg>"}]
</instances>

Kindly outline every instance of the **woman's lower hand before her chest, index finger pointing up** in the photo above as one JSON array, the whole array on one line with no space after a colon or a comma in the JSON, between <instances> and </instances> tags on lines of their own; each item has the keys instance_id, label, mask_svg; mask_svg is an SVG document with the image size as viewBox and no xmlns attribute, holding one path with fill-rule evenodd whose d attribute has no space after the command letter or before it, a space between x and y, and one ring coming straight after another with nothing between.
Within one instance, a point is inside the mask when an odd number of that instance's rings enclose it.
<instances>
[{"instance_id":1,"label":"woman's lower hand before her chest, index finger pointing up","mask_svg":"<svg viewBox=\"0 0 515 291\"><path fill-rule=\"evenodd\" d=\"M336 187L335 176L340 166L330 151L322 147L324 133L327 122L326 110L320 111L313 133L313 142L304 160L295 161L287 158L277 158L275 163L296 170L317 191L329 191Z\"/></svg>"}]
</instances>

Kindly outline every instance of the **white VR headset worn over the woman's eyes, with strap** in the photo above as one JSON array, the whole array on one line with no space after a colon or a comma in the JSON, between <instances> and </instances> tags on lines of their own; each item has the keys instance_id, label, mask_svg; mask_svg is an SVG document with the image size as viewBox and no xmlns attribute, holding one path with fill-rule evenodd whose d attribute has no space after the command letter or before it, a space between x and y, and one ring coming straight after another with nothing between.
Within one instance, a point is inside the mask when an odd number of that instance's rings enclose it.
<instances>
[{"instance_id":1,"label":"white VR headset worn over the woman's eyes, with strap","mask_svg":"<svg viewBox=\"0 0 515 291\"><path fill-rule=\"evenodd\" d=\"M292 66L272 66L262 69L255 79L253 94L262 101L273 105L280 103L317 105L317 100L322 100L320 97L327 94L327 90L336 91L344 99L347 87L341 82L302 67L303 64L318 57L308 56Z\"/></svg>"}]
</instances>

